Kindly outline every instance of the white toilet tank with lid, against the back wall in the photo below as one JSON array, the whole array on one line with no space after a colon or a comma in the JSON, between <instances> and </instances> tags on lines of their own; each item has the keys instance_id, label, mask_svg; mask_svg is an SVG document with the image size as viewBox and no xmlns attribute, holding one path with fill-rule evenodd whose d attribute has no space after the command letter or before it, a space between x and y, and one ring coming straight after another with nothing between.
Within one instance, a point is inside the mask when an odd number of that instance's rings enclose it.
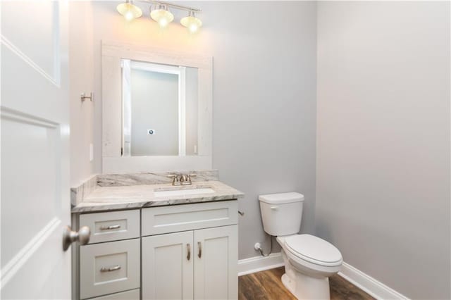
<instances>
[{"instance_id":1,"label":"white toilet tank with lid, against the back wall","mask_svg":"<svg viewBox=\"0 0 451 300\"><path fill-rule=\"evenodd\" d=\"M291 192L260 195L263 228L268 235L295 235L302 220L304 195Z\"/></svg>"}]
</instances>

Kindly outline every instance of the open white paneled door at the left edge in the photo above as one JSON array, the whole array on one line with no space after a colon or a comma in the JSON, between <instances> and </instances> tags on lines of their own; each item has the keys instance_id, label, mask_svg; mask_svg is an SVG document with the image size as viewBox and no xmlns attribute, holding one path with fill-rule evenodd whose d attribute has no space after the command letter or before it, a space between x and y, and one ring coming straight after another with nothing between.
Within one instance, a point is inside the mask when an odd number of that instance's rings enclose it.
<instances>
[{"instance_id":1,"label":"open white paneled door at the left edge","mask_svg":"<svg viewBox=\"0 0 451 300\"><path fill-rule=\"evenodd\" d=\"M2 299L70 299L67 19L66 1L1 1Z\"/></svg>"}]
</instances>

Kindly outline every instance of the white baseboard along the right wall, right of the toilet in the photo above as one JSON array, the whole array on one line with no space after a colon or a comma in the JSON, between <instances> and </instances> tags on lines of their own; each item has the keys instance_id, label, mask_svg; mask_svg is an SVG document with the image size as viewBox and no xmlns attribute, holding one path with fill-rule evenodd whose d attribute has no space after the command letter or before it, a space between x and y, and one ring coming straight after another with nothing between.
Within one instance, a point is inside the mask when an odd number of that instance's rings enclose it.
<instances>
[{"instance_id":1,"label":"white baseboard along the right wall, right of the toilet","mask_svg":"<svg viewBox=\"0 0 451 300\"><path fill-rule=\"evenodd\" d=\"M364 290L376 299L395 300L409 299L406 296L396 292L394 289L387 287L382 282L374 279L370 275L357 270L352 265L343 262L341 271L338 273L345 280L351 282L359 289Z\"/></svg>"}]
</instances>

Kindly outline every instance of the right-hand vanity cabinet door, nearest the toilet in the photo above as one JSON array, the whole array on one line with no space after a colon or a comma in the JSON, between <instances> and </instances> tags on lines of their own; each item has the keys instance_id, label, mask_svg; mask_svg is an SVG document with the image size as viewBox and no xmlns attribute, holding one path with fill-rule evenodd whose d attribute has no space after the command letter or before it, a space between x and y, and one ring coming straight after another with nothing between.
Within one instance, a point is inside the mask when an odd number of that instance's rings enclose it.
<instances>
[{"instance_id":1,"label":"right-hand vanity cabinet door, nearest the toilet","mask_svg":"<svg viewBox=\"0 0 451 300\"><path fill-rule=\"evenodd\" d=\"M194 230L194 299L237 299L237 225Z\"/></svg>"}]
</instances>

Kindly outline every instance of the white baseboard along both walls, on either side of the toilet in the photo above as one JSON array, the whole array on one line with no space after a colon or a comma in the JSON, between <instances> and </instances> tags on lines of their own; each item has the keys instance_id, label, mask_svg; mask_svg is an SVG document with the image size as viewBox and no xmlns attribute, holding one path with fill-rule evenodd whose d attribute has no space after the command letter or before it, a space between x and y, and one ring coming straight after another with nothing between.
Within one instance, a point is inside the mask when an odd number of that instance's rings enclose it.
<instances>
[{"instance_id":1,"label":"white baseboard along both walls, on either side of the toilet","mask_svg":"<svg viewBox=\"0 0 451 300\"><path fill-rule=\"evenodd\" d=\"M238 261L238 276L256 273L264 270L278 268L283 266L282 254L275 253L269 256L255 256L251 258L245 258ZM383 300L397 300L406 299L404 296L394 289L387 287L382 282L374 279L370 275L366 275L361 270L357 270L352 265L343 262L341 271L338 273L345 280L351 282L359 289L367 292L376 299Z\"/></svg>"}]
</instances>

